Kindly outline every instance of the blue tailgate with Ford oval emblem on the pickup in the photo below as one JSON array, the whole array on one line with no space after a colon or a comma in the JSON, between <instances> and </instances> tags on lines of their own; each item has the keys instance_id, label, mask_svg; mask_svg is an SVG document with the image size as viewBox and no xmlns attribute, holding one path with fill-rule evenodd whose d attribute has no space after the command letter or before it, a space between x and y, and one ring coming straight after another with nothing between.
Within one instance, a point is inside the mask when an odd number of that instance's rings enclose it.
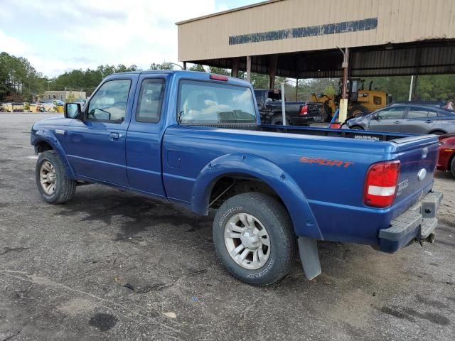
<instances>
[{"instance_id":1,"label":"blue tailgate with Ford oval emblem on the pickup","mask_svg":"<svg viewBox=\"0 0 455 341\"><path fill-rule=\"evenodd\" d=\"M433 175L437 166L439 141L437 136L412 136L394 141L398 144L397 159L400 160L395 204L400 214L414 205L422 195L433 187Z\"/></svg>"}]
</instances>

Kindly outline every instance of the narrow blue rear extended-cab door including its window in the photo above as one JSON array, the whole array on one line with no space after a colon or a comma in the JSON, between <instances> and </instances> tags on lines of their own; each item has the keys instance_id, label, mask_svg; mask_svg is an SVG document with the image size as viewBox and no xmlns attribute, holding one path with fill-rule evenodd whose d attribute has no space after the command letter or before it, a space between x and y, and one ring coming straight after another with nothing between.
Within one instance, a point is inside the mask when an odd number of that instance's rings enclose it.
<instances>
[{"instance_id":1,"label":"narrow blue rear extended-cab door including its window","mask_svg":"<svg viewBox=\"0 0 455 341\"><path fill-rule=\"evenodd\" d=\"M161 178L161 138L165 118L161 114L166 78L141 75L127 132L127 174L134 190L164 197Z\"/></svg>"}]
</instances>

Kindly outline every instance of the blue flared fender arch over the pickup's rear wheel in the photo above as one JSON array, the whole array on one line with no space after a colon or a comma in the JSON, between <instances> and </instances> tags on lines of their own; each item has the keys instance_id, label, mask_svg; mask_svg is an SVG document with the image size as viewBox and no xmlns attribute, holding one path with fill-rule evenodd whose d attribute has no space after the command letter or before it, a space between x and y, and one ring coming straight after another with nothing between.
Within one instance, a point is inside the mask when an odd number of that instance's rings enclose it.
<instances>
[{"instance_id":1,"label":"blue flared fender arch over the pickup's rear wheel","mask_svg":"<svg viewBox=\"0 0 455 341\"><path fill-rule=\"evenodd\" d=\"M299 185L276 164L252 154L227 154L208 163L200 171L193 187L191 200L193 212L207 215L213 185L225 175L250 175L267 183L284 202L296 234L323 240L316 218Z\"/></svg>"}]
</instances>

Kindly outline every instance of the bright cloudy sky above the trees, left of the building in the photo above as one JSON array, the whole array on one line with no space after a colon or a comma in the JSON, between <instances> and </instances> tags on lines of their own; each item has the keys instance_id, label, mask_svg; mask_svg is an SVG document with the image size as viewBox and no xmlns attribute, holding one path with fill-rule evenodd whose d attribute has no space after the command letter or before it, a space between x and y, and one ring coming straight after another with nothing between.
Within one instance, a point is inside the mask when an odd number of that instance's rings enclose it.
<instances>
[{"instance_id":1,"label":"bright cloudy sky above the trees, left of the building","mask_svg":"<svg viewBox=\"0 0 455 341\"><path fill-rule=\"evenodd\" d=\"M176 22L259 0L0 0L0 52L48 77L177 62Z\"/></svg>"}]
</instances>

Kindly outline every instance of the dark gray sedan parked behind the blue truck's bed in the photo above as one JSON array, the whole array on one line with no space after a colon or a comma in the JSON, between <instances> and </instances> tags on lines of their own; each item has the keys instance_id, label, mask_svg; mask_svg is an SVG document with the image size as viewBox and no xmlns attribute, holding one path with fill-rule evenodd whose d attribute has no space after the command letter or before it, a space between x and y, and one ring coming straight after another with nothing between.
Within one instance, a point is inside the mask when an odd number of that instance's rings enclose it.
<instances>
[{"instance_id":1,"label":"dark gray sedan parked behind the blue truck's bed","mask_svg":"<svg viewBox=\"0 0 455 341\"><path fill-rule=\"evenodd\" d=\"M343 128L444 135L455 133L455 112L430 105L391 104L348 119Z\"/></svg>"}]
</instances>

